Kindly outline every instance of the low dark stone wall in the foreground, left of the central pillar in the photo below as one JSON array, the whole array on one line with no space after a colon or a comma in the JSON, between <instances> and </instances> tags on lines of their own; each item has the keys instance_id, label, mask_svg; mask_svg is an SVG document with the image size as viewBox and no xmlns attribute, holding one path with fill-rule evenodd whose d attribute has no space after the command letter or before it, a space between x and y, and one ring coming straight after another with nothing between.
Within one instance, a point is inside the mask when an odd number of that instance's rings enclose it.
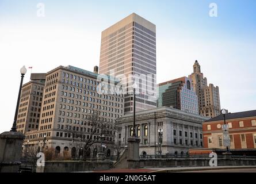
<instances>
[{"instance_id":1,"label":"low dark stone wall in the foreground, left of the central pillar","mask_svg":"<svg viewBox=\"0 0 256 184\"><path fill-rule=\"evenodd\" d=\"M108 170L112 162L46 161L44 167L36 168L37 173L70 173L81 171Z\"/></svg>"}]
</instances>

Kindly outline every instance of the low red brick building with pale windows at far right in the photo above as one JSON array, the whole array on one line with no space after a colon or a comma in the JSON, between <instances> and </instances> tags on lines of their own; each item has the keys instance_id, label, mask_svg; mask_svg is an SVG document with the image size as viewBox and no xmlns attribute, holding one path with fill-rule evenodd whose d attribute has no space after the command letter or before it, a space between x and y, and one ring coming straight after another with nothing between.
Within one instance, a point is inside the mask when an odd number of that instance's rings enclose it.
<instances>
[{"instance_id":1,"label":"low red brick building with pale windows at far right","mask_svg":"<svg viewBox=\"0 0 256 184\"><path fill-rule=\"evenodd\" d=\"M205 148L226 149L223 145L223 115L203 122L202 131ZM256 148L256 110L226 114L231 150L248 150Z\"/></svg>"}]
</instances>

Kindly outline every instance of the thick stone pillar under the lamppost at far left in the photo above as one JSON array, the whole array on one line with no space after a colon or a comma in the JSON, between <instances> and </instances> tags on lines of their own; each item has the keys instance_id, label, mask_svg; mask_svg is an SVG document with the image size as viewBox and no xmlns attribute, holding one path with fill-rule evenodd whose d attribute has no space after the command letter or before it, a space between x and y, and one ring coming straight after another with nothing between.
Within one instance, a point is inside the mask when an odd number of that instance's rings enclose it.
<instances>
[{"instance_id":1,"label":"thick stone pillar under the lamppost at far left","mask_svg":"<svg viewBox=\"0 0 256 184\"><path fill-rule=\"evenodd\" d=\"M0 172L17 173L25 135L20 132L0 134Z\"/></svg>"}]
</instances>

